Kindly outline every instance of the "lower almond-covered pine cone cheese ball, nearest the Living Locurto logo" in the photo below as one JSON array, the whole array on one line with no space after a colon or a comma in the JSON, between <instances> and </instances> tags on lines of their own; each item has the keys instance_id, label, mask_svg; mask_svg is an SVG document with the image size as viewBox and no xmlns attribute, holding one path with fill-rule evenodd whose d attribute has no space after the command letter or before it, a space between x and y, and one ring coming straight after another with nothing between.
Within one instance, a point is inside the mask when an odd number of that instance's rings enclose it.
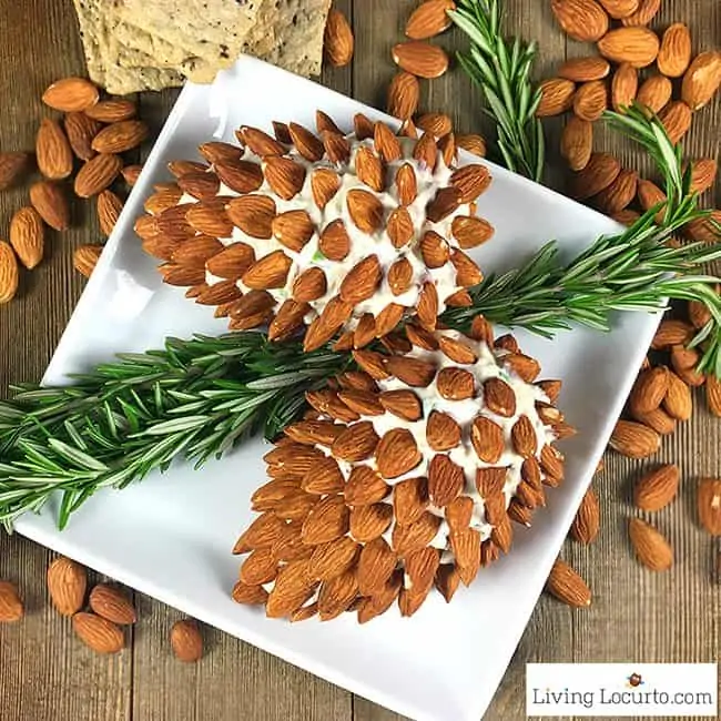
<instances>
[{"instance_id":1,"label":"lower almond-covered pine cone cheese ball, nearest the Living Locurto logo","mask_svg":"<svg viewBox=\"0 0 721 721\"><path fill-rule=\"evenodd\" d=\"M412 616L434 586L450 601L509 550L511 520L529 525L563 478L554 443L569 427L560 383L536 382L538 363L481 327L471 339L410 324L392 353L355 351L360 370L307 394L313 412L265 456L236 601L363 623L397 599Z\"/></svg>"}]
</instances>

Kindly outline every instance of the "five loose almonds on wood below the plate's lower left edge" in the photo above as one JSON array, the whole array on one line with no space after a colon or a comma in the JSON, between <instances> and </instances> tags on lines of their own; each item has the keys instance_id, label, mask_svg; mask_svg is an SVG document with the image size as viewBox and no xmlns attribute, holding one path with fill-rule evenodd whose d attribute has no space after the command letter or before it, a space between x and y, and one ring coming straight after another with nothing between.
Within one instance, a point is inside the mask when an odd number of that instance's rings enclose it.
<instances>
[{"instance_id":1,"label":"five loose almonds on wood below the plate's lower left edge","mask_svg":"<svg viewBox=\"0 0 721 721\"><path fill-rule=\"evenodd\" d=\"M62 556L50 563L47 581L55 611L71 619L75 634L89 649L97 653L118 653L125 648L123 628L133 626L138 615L132 601L116 586L97 583L88 593L85 569ZM23 617L18 588L10 581L0 581L0 623ZM203 638L193 619L173 624L170 643L181 661L197 661L203 656Z\"/></svg>"}]
</instances>

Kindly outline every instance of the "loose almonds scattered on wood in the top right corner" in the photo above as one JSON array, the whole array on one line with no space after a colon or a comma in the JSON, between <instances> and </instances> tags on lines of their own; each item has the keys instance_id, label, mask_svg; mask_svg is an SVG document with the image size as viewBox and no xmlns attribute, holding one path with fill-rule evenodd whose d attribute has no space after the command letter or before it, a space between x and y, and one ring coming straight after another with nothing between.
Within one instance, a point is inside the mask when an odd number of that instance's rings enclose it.
<instances>
[{"instance_id":1,"label":"loose almonds scattered on wood in the top right corner","mask_svg":"<svg viewBox=\"0 0 721 721\"><path fill-rule=\"evenodd\" d=\"M563 31L575 40L596 42L598 55L566 61L558 77L545 80L538 116L572 111L561 136L561 154L575 171L573 195L623 224L662 203L662 191L623 169L608 153L593 152L593 128L607 108L623 112L633 101L658 113L673 143L688 133L693 113L709 104L721 85L721 52L692 54L689 28L677 22L659 35L649 28L661 0L551 0ZM641 75L646 73L646 75ZM717 161L692 162L692 190L713 184ZM721 219L721 211L714 211ZM708 222L687 229L698 241L717 241Z\"/></svg>"}]
</instances>

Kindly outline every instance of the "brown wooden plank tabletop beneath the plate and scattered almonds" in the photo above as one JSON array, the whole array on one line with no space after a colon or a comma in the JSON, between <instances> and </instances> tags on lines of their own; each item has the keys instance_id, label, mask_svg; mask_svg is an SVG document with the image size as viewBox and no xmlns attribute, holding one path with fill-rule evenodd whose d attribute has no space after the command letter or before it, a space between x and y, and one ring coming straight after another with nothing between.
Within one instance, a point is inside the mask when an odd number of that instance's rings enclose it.
<instances>
[{"instance_id":1,"label":"brown wooden plank tabletop beneath the plate and scattered almonds","mask_svg":"<svg viewBox=\"0 0 721 721\"><path fill-rule=\"evenodd\" d=\"M353 21L355 60L351 67L326 70L322 82L383 106L394 73L389 50L416 1L336 0L336 4ZM566 57L589 51L563 37L546 0L507 0L507 8L508 30L539 42L539 74L550 74ZM721 3L663 0L656 27L677 20L691 27L695 49L721 45ZM57 78L84 73L72 3L0 0L0 149L32 149L38 121L48 112L39 100L42 90ZM463 41L448 33L440 42L453 49ZM461 132L486 128L479 94L459 70L422 85L424 110L448 112ZM143 94L141 116L160 129L174 98L173 92ZM256 100L262 102L243 99ZM560 128L560 121L547 124L547 182L562 191L567 173L557 152ZM718 156L720 130L717 99L697 115L689 154ZM613 150L628 166L647 167L639 152L618 139L601 134L597 148ZM721 206L721 192L704 200ZM12 212L24 203L27 189L0 194L0 236L7 236ZM101 236L91 203L75 204L72 220L70 231L49 233L48 258L33 273L23 274L19 297L0 307L0 393L8 383L42 375L80 296L83 278L72 268L72 250ZM699 528L694 486L700 477L721 475L720 448L721 422L709 415L699 395L692 422L667 438L652 459L678 463L682 470L680 498L654 519L676 549L676 566L666 573L652 573L633 560L626 532L633 514L632 483L646 466L608 456L606 471L595 481L602 511L600 537L590 547L568 541L562 550L591 586L593 603L587 610L571 610L548 597L540 599L486 719L525 718L528 661L718 659L719 547ZM202 662L182 664L172 657L167 641L179 612L139 593L134 598L140 622L129 648L112 658L94 656L74 638L68 619L50 607L44 575L51 558L47 549L23 538L0 536L0 579L18 582L28 611L22 622L0 627L2 721L400 720L214 629L204 629L207 652ZM441 639L428 642L438 643L443 652Z\"/></svg>"}]
</instances>

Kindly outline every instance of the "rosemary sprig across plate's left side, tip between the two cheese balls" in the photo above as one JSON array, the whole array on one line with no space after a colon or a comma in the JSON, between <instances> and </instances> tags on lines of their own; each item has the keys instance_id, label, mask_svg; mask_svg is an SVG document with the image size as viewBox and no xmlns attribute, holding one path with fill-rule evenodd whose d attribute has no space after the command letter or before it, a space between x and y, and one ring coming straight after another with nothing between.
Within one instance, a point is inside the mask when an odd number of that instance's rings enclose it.
<instances>
[{"instance_id":1,"label":"rosemary sprig across plate's left side, tip between the two cheese balls","mask_svg":"<svg viewBox=\"0 0 721 721\"><path fill-rule=\"evenodd\" d=\"M348 363L250 332L169 338L163 351L121 355L72 386L19 387L0 403L0 521L10 529L61 491L63 528L99 488L124 488L177 457L201 466L251 435L272 438L306 390Z\"/></svg>"}]
</instances>

